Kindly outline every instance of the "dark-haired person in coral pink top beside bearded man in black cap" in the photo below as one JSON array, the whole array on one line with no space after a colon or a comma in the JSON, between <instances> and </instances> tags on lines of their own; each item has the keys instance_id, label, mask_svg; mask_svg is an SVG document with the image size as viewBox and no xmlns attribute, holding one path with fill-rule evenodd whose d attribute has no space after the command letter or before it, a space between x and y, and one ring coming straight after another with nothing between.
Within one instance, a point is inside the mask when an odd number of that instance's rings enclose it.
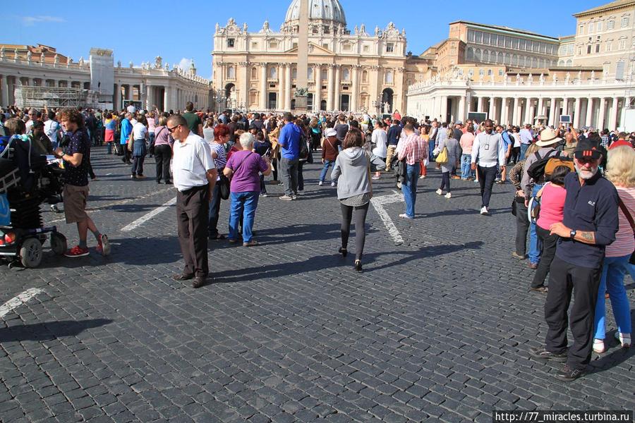
<instances>
[{"instance_id":1,"label":"dark-haired person in coral pink top beside bearded man in black cap","mask_svg":"<svg viewBox=\"0 0 635 423\"><path fill-rule=\"evenodd\" d=\"M567 197L567 191L564 190L564 177L570 171L567 166L557 166L549 177L549 183L546 183L543 189L538 192L540 216L536 221L536 233L543 243L543 250L540 253L540 263L538 263L538 269L533 275L529 289L539 293L547 293L548 291L545 279L549 273L553 257L555 257L558 242L558 235L550 235L549 227L553 223L562 222L564 218L564 199Z\"/></svg>"}]
</instances>

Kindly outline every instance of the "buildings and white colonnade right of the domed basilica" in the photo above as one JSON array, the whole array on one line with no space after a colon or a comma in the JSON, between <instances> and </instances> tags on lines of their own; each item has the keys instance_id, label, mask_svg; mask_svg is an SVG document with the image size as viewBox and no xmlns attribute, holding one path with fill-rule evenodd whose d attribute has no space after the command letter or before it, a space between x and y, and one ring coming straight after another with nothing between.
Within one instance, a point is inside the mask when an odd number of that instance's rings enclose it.
<instances>
[{"instance_id":1,"label":"buildings and white colonnade right of the domed basilica","mask_svg":"<svg viewBox=\"0 0 635 423\"><path fill-rule=\"evenodd\" d=\"M578 128L625 128L635 100L635 0L574 16L576 35L560 38L451 23L449 38L420 56L434 71L407 84L407 113L456 121L478 111L515 125L569 116Z\"/></svg>"}]
</instances>

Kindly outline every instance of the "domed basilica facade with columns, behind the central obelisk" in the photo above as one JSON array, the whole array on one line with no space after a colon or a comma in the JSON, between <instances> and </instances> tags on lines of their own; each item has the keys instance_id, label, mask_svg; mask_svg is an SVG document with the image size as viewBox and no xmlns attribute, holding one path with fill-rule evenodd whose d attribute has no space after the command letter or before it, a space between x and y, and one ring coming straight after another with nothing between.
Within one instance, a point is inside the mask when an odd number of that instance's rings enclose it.
<instances>
[{"instance_id":1,"label":"domed basilica facade with columns, behind the central obelisk","mask_svg":"<svg viewBox=\"0 0 635 423\"><path fill-rule=\"evenodd\" d=\"M279 32L265 21L249 32L230 18L216 25L212 69L219 108L294 109L300 2L291 2ZM305 29L303 29L305 30ZM404 110L406 33L393 23L351 32L338 0L311 0L308 108L313 111Z\"/></svg>"}]
</instances>

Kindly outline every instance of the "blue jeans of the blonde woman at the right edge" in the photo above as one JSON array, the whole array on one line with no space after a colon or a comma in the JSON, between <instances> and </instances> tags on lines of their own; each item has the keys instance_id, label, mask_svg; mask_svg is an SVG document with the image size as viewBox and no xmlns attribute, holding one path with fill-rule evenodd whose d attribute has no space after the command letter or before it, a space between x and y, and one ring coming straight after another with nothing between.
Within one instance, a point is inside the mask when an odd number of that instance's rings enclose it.
<instances>
[{"instance_id":1,"label":"blue jeans of the blonde woman at the right edge","mask_svg":"<svg viewBox=\"0 0 635 423\"><path fill-rule=\"evenodd\" d=\"M630 255L624 257L605 257L602 266L602 278L598 290L598 303L595 305L595 339L604 339L606 336L606 300L604 293L609 293L611 308L617 330L621 333L631 333L631 309L629 299L624 289L624 274L628 271Z\"/></svg>"}]
</instances>

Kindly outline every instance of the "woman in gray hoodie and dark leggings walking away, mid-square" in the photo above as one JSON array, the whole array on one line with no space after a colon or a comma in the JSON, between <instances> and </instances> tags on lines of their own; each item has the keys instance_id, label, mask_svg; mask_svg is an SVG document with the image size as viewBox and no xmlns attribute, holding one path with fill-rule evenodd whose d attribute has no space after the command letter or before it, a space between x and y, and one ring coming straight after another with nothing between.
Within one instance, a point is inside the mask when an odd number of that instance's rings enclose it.
<instances>
[{"instance_id":1,"label":"woman in gray hoodie and dark leggings walking away, mid-square","mask_svg":"<svg viewBox=\"0 0 635 423\"><path fill-rule=\"evenodd\" d=\"M335 159L331 173L332 180L337 180L337 199L341 208L341 247L339 252L346 257L351 233L351 220L355 210L355 267L362 271L361 256L364 250L366 233L364 229L370 197L373 188L370 183L370 161L362 148L364 144L361 130L351 129L344 137L342 151ZM339 179L338 179L339 178Z\"/></svg>"}]
</instances>

